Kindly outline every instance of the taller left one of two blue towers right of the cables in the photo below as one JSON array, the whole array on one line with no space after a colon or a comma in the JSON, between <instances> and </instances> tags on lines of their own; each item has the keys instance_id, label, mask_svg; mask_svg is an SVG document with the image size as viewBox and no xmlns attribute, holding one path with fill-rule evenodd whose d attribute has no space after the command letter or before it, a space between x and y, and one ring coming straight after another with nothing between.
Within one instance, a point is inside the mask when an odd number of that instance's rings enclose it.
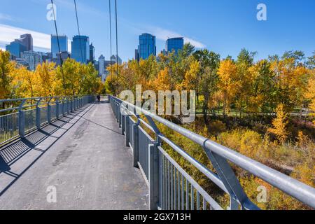
<instances>
[{"instance_id":1,"label":"taller left one of two blue towers right of the cables","mask_svg":"<svg viewBox=\"0 0 315 224\"><path fill-rule=\"evenodd\" d=\"M147 59L150 55L156 55L155 36L141 34L139 36L138 59Z\"/></svg>"}]
</instances>

